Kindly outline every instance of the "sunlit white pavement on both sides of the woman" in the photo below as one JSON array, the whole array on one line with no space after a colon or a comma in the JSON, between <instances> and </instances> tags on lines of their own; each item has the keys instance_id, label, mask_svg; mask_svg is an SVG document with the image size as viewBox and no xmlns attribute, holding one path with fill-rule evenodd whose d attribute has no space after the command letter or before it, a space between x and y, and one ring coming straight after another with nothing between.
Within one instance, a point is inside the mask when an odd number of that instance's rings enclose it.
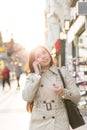
<instances>
[{"instance_id":1,"label":"sunlit white pavement on both sides of the woman","mask_svg":"<svg viewBox=\"0 0 87 130\"><path fill-rule=\"evenodd\" d=\"M16 88L16 80L11 82L11 89L6 86L2 90L0 84L0 130L29 130L30 114L26 111L26 102L22 99L22 89L25 81L25 75L21 76L21 89ZM87 122L87 115L84 116ZM86 130L87 124L77 128L77 130Z\"/></svg>"}]
</instances>

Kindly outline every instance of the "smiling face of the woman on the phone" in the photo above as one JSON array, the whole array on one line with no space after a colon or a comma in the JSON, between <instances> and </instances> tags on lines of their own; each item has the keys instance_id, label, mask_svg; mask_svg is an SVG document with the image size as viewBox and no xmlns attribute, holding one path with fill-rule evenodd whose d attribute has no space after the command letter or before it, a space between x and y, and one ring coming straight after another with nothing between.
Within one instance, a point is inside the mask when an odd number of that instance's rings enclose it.
<instances>
[{"instance_id":1,"label":"smiling face of the woman on the phone","mask_svg":"<svg viewBox=\"0 0 87 130\"><path fill-rule=\"evenodd\" d=\"M35 51L35 60L38 61L42 68L50 66L51 57L44 48L38 48Z\"/></svg>"}]
</instances>

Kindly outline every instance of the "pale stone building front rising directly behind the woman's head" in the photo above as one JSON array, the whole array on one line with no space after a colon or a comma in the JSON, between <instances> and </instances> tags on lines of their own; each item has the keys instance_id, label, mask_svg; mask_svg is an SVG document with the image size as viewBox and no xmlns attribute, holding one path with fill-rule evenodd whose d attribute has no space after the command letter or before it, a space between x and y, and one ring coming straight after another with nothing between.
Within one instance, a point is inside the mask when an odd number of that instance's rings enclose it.
<instances>
[{"instance_id":1,"label":"pale stone building front rising directly behind the woman's head","mask_svg":"<svg viewBox=\"0 0 87 130\"><path fill-rule=\"evenodd\" d=\"M64 21L70 20L70 0L46 0L46 45L52 49L60 32L64 32Z\"/></svg>"}]
</instances>

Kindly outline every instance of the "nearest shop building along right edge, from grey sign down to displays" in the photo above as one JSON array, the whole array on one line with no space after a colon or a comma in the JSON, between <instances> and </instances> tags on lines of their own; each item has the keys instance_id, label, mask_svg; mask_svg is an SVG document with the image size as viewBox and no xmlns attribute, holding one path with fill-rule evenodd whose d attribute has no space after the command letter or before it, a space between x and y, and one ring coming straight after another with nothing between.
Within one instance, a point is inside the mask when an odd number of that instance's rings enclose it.
<instances>
[{"instance_id":1,"label":"nearest shop building along right edge, from grey sign down to displays","mask_svg":"<svg viewBox=\"0 0 87 130\"><path fill-rule=\"evenodd\" d=\"M87 108L87 0L78 0L71 8L66 41L66 65L81 90L79 106Z\"/></svg>"}]
</instances>

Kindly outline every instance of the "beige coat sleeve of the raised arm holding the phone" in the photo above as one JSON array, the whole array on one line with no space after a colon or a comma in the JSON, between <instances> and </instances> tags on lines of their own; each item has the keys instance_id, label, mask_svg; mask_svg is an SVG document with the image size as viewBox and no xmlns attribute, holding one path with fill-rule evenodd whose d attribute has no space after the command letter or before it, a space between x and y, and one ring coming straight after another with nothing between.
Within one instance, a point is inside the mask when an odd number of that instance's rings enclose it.
<instances>
[{"instance_id":1,"label":"beige coat sleeve of the raised arm holding the phone","mask_svg":"<svg viewBox=\"0 0 87 130\"><path fill-rule=\"evenodd\" d=\"M39 87L40 75L35 73L28 74L24 89L22 90L22 97L25 101L32 102Z\"/></svg>"}]
</instances>

